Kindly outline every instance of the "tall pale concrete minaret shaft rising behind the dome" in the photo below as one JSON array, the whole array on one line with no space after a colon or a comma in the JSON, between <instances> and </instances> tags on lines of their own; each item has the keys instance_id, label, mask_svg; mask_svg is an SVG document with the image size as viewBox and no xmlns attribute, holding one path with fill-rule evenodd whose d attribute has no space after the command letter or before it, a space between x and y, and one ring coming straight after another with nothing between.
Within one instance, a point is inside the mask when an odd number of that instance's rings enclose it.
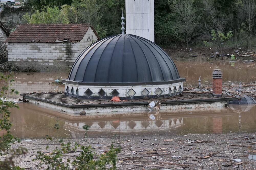
<instances>
[{"instance_id":1,"label":"tall pale concrete minaret shaft rising behind the dome","mask_svg":"<svg viewBox=\"0 0 256 170\"><path fill-rule=\"evenodd\" d=\"M154 0L125 0L126 34L155 42Z\"/></svg>"}]
</instances>

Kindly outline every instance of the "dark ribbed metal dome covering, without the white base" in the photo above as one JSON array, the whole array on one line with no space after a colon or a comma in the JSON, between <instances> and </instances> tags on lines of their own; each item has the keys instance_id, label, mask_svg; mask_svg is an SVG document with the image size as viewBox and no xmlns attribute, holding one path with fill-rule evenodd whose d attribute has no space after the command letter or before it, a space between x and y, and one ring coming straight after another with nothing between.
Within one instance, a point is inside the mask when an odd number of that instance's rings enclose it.
<instances>
[{"instance_id":1,"label":"dark ribbed metal dome covering, without the white base","mask_svg":"<svg viewBox=\"0 0 256 170\"><path fill-rule=\"evenodd\" d=\"M66 83L78 85L168 84L180 78L172 59L155 43L131 34L113 35L87 47Z\"/></svg>"}]
</instances>

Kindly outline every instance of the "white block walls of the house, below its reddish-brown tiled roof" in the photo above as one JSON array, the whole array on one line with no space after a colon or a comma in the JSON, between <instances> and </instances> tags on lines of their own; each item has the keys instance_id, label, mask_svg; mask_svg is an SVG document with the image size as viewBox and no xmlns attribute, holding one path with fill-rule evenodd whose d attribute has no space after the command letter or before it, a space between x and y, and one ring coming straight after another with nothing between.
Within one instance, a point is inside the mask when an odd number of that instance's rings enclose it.
<instances>
[{"instance_id":1,"label":"white block walls of the house, below its reddish-brown tiled roof","mask_svg":"<svg viewBox=\"0 0 256 170\"><path fill-rule=\"evenodd\" d=\"M77 43L8 43L8 61L22 69L32 66L40 71L65 71L93 41L97 36L89 28Z\"/></svg>"}]
</instances>

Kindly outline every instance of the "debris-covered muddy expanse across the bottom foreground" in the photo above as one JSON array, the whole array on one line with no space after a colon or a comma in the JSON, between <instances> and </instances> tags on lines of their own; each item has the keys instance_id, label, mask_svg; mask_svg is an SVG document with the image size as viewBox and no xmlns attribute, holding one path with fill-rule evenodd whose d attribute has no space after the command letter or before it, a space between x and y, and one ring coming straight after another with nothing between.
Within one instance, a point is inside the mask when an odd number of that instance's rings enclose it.
<instances>
[{"instance_id":1,"label":"debris-covered muddy expanse across the bottom foreground","mask_svg":"<svg viewBox=\"0 0 256 170\"><path fill-rule=\"evenodd\" d=\"M248 159L249 154L256 154L255 135L256 133L243 133L242 138L237 133L174 136L161 132L147 136L64 139L64 142L90 144L97 154L104 153L112 142L116 147L120 144L122 151L118 154L118 169L243 169L243 165L246 169L255 169L256 160ZM164 141L165 139L173 141ZM37 151L49 153L53 148L59 147L58 141L59 139L22 139L21 143L13 144L12 147L25 147L28 152L17 158L15 164L26 169L45 169L45 165L39 165L38 161L32 159ZM45 150L46 145L49 145L48 151ZM75 159L79 153L79 149L74 153L67 153L63 161Z\"/></svg>"}]
</instances>

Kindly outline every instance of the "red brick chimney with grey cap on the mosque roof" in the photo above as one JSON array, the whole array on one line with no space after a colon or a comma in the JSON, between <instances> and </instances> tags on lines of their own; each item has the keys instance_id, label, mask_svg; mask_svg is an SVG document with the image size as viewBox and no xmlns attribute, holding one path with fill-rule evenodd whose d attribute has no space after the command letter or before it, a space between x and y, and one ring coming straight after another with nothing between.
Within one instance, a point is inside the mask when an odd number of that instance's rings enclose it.
<instances>
[{"instance_id":1,"label":"red brick chimney with grey cap on the mosque roof","mask_svg":"<svg viewBox=\"0 0 256 170\"><path fill-rule=\"evenodd\" d=\"M212 95L221 97L222 94L222 73L220 69L212 72Z\"/></svg>"}]
</instances>

